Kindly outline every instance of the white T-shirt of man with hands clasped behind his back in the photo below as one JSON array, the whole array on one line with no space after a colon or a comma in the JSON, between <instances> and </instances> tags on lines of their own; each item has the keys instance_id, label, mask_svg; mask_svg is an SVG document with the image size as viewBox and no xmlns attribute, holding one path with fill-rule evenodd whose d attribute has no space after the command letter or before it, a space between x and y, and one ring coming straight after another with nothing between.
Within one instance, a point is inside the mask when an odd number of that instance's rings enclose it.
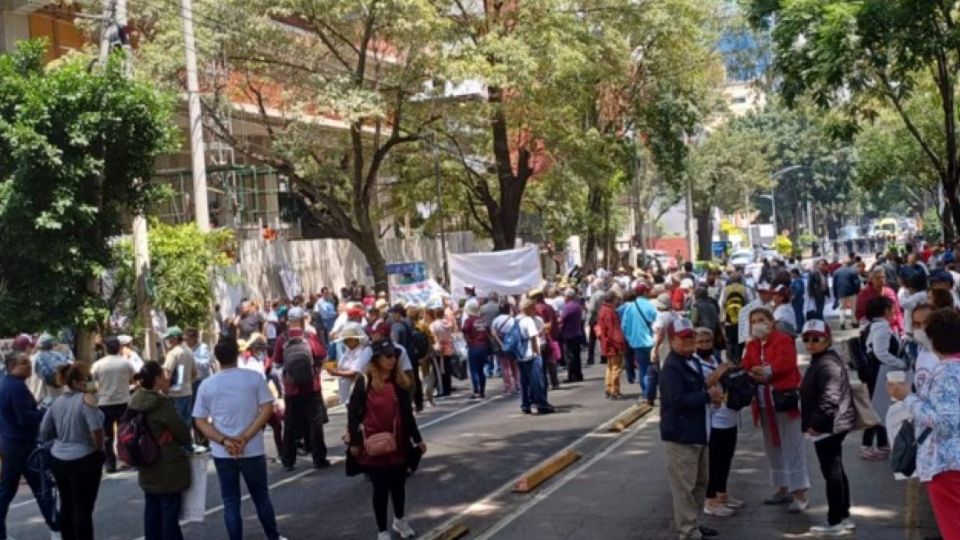
<instances>
[{"instance_id":1,"label":"white T-shirt of man with hands clasped behind his back","mask_svg":"<svg viewBox=\"0 0 960 540\"><path fill-rule=\"evenodd\" d=\"M193 405L194 418L208 418L217 431L227 437L239 437L256 420L260 406L273 403L263 375L241 368L229 368L208 377L197 391ZM210 441L215 458L230 458L230 453ZM243 457L262 456L263 431L247 441Z\"/></svg>"}]
</instances>

